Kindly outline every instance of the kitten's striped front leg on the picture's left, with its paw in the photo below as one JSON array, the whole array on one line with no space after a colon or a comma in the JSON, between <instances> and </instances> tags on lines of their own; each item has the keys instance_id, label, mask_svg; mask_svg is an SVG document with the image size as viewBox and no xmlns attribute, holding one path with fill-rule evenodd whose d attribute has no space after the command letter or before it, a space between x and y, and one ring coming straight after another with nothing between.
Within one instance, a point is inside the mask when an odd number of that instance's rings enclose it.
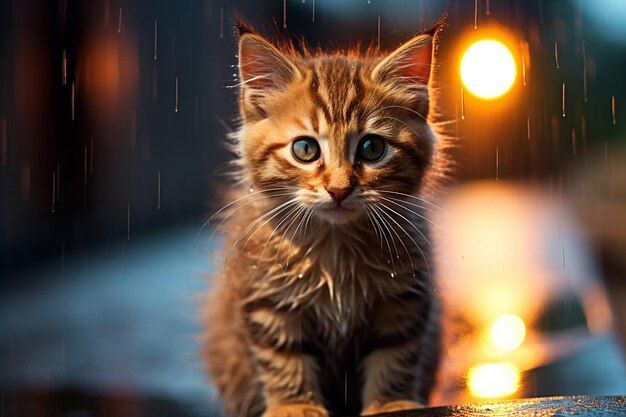
<instances>
[{"instance_id":1,"label":"kitten's striped front leg on the picture's left, with its paw","mask_svg":"<svg viewBox=\"0 0 626 417\"><path fill-rule=\"evenodd\" d=\"M264 385L263 417L328 417L316 352L303 335L300 317L267 304L248 307L248 334Z\"/></svg>"}]
</instances>

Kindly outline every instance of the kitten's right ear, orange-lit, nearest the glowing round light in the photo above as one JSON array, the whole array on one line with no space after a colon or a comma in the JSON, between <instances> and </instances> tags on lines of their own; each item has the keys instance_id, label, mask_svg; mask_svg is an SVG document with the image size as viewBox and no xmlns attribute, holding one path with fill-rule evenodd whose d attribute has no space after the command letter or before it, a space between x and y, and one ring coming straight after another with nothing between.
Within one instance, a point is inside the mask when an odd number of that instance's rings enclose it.
<instances>
[{"instance_id":1,"label":"kitten's right ear, orange-lit, nearest the glowing round light","mask_svg":"<svg viewBox=\"0 0 626 417\"><path fill-rule=\"evenodd\" d=\"M383 59L372 71L379 81L428 85L433 55L433 36L418 35Z\"/></svg>"}]
</instances>

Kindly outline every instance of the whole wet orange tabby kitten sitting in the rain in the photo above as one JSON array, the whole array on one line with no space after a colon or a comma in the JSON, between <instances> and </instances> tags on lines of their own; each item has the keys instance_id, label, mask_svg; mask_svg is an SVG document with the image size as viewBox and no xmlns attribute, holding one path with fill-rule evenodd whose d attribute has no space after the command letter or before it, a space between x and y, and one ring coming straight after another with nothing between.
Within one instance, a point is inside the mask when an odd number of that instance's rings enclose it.
<instances>
[{"instance_id":1,"label":"whole wet orange tabby kitten sitting in the rain","mask_svg":"<svg viewBox=\"0 0 626 417\"><path fill-rule=\"evenodd\" d=\"M229 415L428 400L439 315L432 206L419 196L436 148L425 119L435 34L388 55L297 53L239 26L243 177L203 350Z\"/></svg>"}]
</instances>

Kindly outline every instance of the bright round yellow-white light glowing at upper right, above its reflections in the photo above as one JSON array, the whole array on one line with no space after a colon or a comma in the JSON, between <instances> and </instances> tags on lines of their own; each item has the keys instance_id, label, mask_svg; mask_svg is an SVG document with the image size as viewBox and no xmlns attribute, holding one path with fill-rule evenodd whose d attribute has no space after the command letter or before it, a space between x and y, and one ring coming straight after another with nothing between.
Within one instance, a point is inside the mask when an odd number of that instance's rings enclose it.
<instances>
[{"instance_id":1,"label":"bright round yellow-white light glowing at upper right, above its reflections","mask_svg":"<svg viewBox=\"0 0 626 417\"><path fill-rule=\"evenodd\" d=\"M494 40L472 44L461 59L461 80L478 97L493 99L506 93L515 81L513 55Z\"/></svg>"}]
</instances>

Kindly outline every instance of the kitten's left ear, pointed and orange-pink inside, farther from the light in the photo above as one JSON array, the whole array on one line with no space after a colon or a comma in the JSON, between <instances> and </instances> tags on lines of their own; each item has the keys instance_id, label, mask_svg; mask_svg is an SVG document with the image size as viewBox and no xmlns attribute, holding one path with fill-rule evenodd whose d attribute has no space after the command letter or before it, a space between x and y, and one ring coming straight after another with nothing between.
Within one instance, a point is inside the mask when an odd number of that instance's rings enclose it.
<instances>
[{"instance_id":1,"label":"kitten's left ear, pointed and orange-pink inside, farther from the light","mask_svg":"<svg viewBox=\"0 0 626 417\"><path fill-rule=\"evenodd\" d=\"M256 33L239 38L239 79L244 105L265 117L263 99L284 88L298 69L275 46Z\"/></svg>"}]
</instances>

